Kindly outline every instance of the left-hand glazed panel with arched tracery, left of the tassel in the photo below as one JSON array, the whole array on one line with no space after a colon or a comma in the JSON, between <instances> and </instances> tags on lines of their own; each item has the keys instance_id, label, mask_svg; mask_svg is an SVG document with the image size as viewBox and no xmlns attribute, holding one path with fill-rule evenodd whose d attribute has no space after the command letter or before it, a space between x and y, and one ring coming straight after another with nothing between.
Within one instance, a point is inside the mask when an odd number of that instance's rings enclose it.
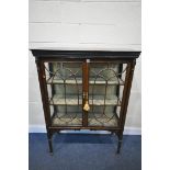
<instances>
[{"instance_id":1,"label":"left-hand glazed panel with arched tracery, left of the tassel","mask_svg":"<svg viewBox=\"0 0 170 170\"><path fill-rule=\"evenodd\" d=\"M52 126L82 126L82 63L45 63Z\"/></svg>"}]
</instances>

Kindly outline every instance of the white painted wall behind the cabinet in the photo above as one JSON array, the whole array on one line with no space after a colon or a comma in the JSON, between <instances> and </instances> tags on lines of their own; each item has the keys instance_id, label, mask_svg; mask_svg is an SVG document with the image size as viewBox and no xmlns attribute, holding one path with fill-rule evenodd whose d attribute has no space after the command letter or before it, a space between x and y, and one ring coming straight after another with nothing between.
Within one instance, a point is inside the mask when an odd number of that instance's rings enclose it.
<instances>
[{"instance_id":1,"label":"white painted wall behind the cabinet","mask_svg":"<svg viewBox=\"0 0 170 170\"><path fill-rule=\"evenodd\" d=\"M94 47L140 50L139 0L30 0L29 10L30 48ZM29 57L30 132L44 132L37 72L31 52ZM140 58L138 58L125 133L140 134Z\"/></svg>"}]
</instances>

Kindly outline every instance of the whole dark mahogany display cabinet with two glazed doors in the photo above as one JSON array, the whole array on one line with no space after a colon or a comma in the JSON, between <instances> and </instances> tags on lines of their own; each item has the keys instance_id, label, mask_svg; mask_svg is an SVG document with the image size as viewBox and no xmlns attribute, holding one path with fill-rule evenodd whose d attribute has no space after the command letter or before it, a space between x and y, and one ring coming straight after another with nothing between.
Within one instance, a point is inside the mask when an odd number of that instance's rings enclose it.
<instances>
[{"instance_id":1,"label":"whole dark mahogany display cabinet with two glazed doors","mask_svg":"<svg viewBox=\"0 0 170 170\"><path fill-rule=\"evenodd\" d=\"M63 129L114 133L120 152L140 52L31 50L38 72L49 152L54 133Z\"/></svg>"}]
</instances>

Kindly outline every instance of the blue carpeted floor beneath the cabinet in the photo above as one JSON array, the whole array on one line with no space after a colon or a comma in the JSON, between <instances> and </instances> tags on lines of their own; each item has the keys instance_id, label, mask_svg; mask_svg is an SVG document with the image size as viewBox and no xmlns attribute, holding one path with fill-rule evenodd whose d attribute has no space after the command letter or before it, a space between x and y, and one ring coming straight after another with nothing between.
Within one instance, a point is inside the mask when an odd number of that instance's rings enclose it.
<instances>
[{"instance_id":1,"label":"blue carpeted floor beneath the cabinet","mask_svg":"<svg viewBox=\"0 0 170 170\"><path fill-rule=\"evenodd\" d=\"M137 135L123 137L120 155L114 135L56 134L53 156L46 134L30 134L29 145L29 170L141 169L141 137Z\"/></svg>"}]
</instances>

